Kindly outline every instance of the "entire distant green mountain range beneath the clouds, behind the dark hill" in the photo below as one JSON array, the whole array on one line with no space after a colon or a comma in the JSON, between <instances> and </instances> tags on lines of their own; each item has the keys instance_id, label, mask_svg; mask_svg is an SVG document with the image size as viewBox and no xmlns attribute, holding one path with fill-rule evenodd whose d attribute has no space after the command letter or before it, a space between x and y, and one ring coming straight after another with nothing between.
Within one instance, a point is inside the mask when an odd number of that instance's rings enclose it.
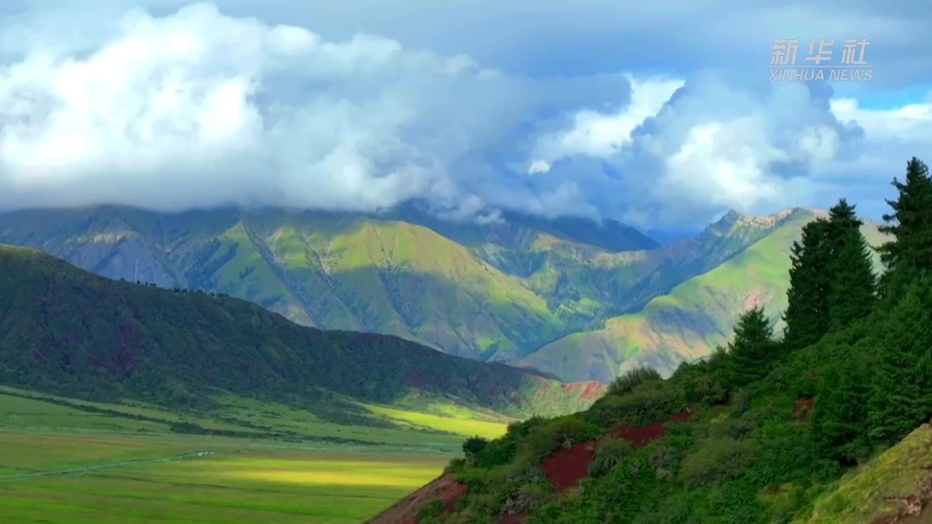
<instances>
[{"instance_id":1,"label":"entire distant green mountain range beneath the clouds, behind the dark hill","mask_svg":"<svg viewBox=\"0 0 932 524\"><path fill-rule=\"evenodd\" d=\"M779 318L788 248L817 212L730 212L661 246L614 221L128 207L0 214L0 242L111 279L251 300L325 329L609 381L707 354L750 304ZM874 225L864 228L880 241Z\"/></svg>"}]
</instances>

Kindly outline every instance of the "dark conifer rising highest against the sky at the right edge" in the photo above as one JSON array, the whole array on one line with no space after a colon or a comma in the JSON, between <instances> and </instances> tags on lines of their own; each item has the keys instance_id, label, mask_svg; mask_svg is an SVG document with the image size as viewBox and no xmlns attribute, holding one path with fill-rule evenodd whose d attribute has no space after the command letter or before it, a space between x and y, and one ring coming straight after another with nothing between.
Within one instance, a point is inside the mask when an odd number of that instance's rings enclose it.
<instances>
[{"instance_id":1,"label":"dark conifer rising highest against the sky at the right edge","mask_svg":"<svg viewBox=\"0 0 932 524\"><path fill-rule=\"evenodd\" d=\"M932 180L928 166L913 157L906 164L906 180L893 179L897 200L886 200L893 213L884 214L887 225L880 231L895 240L879 249L886 266L884 287L888 295L898 296L914 272L932 269Z\"/></svg>"}]
</instances>

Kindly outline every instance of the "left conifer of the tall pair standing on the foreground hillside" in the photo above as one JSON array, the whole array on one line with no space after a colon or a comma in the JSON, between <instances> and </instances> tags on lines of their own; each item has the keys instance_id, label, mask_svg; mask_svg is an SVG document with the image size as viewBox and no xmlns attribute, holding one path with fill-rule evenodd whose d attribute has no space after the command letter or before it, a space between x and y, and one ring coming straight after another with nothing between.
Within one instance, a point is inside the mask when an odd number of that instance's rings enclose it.
<instances>
[{"instance_id":1,"label":"left conifer of the tall pair standing on the foreground hillside","mask_svg":"<svg viewBox=\"0 0 932 524\"><path fill-rule=\"evenodd\" d=\"M802 228L802 243L790 248L787 323L783 341L790 350L816 343L829 331L829 222L817 219Z\"/></svg>"}]
</instances>

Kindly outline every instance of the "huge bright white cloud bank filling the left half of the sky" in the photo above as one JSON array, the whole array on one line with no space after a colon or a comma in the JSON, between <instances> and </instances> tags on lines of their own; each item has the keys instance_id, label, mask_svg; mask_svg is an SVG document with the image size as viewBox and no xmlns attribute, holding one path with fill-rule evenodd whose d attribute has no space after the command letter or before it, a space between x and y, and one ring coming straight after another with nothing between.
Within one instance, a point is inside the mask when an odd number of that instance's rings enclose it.
<instances>
[{"instance_id":1,"label":"huge bright white cloud bank filling the left half of the sky","mask_svg":"<svg viewBox=\"0 0 932 524\"><path fill-rule=\"evenodd\" d=\"M212 5L131 10L118 25L86 56L34 48L0 64L0 205L374 210L468 198L445 156L471 137L420 135L445 88L494 81L467 58L365 34L324 42Z\"/></svg>"}]
</instances>

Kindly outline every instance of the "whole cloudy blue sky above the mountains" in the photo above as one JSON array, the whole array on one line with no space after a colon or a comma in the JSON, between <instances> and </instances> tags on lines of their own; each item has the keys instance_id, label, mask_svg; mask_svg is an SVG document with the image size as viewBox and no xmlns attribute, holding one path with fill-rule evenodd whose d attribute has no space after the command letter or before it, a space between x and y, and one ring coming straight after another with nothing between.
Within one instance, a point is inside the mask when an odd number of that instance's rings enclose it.
<instances>
[{"instance_id":1,"label":"whole cloudy blue sky above the mountains","mask_svg":"<svg viewBox=\"0 0 932 524\"><path fill-rule=\"evenodd\" d=\"M6 0L0 208L876 219L932 161L924 4ZM774 38L872 77L768 80Z\"/></svg>"}]
</instances>

